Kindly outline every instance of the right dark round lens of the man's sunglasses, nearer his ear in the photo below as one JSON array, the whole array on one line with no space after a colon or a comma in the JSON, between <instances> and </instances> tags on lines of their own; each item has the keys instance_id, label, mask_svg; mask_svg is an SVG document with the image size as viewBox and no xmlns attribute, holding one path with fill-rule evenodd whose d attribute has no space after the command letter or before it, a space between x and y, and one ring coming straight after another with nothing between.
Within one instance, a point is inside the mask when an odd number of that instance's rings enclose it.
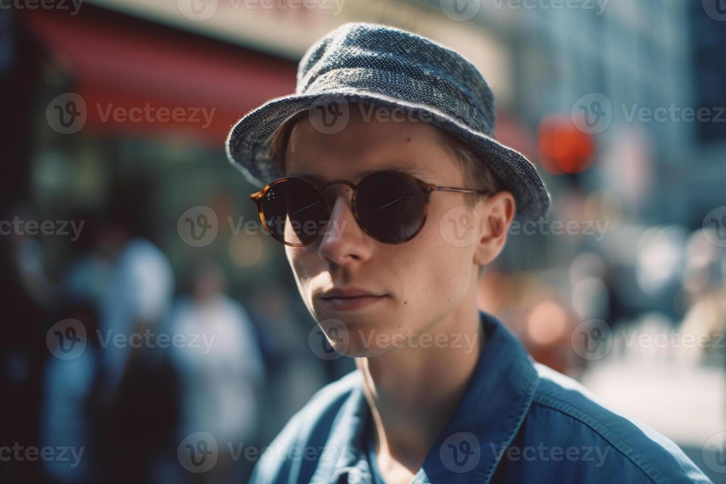
<instances>
[{"instance_id":1,"label":"right dark round lens of the man's sunglasses, nearer his ear","mask_svg":"<svg viewBox=\"0 0 726 484\"><path fill-rule=\"evenodd\" d=\"M424 210L424 194L407 176L374 173L358 186L359 221L380 242L396 244L413 237L423 223Z\"/></svg>"}]
</instances>

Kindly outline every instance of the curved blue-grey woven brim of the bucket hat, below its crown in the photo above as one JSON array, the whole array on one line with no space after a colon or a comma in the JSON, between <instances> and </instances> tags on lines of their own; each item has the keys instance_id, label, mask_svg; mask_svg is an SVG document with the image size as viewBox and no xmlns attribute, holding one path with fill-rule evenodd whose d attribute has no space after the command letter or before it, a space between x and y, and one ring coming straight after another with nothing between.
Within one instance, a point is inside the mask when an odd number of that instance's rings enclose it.
<instances>
[{"instance_id":1,"label":"curved blue-grey woven brim of the bucket hat, below its crown","mask_svg":"<svg viewBox=\"0 0 726 484\"><path fill-rule=\"evenodd\" d=\"M425 112L431 124L442 128L470 146L512 192L517 205L515 218L528 221L544 216L550 207L550 197L537 169L520 152L499 143L486 134L473 131L444 112L423 104L405 102L365 91L335 91L325 94L289 95L270 99L248 112L229 131L225 149L230 163L236 166L250 184L262 188L283 176L269 159L272 137L281 126L300 112L309 110L321 97L343 97L349 104L375 103L386 107L404 108L412 113Z\"/></svg>"}]
</instances>

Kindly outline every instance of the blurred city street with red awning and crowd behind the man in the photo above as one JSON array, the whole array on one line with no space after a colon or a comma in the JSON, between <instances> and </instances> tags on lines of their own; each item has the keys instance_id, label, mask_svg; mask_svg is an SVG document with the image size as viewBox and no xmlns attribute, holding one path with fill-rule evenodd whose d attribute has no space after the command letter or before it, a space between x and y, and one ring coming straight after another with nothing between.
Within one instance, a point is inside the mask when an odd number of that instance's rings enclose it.
<instances>
[{"instance_id":1,"label":"blurred city street with red awning and crowd behind the man","mask_svg":"<svg viewBox=\"0 0 726 484\"><path fill-rule=\"evenodd\" d=\"M224 152L349 21L473 62L552 194L481 309L726 482L723 0L0 0L0 482L245 482L354 368Z\"/></svg>"}]
</instances>

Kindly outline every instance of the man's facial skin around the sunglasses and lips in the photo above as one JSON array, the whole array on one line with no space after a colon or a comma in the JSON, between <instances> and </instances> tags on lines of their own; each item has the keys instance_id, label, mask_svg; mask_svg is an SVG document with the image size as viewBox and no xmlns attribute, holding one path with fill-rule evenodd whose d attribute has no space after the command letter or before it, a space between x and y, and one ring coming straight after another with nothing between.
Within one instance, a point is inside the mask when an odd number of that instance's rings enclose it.
<instances>
[{"instance_id":1,"label":"man's facial skin around the sunglasses and lips","mask_svg":"<svg viewBox=\"0 0 726 484\"><path fill-rule=\"evenodd\" d=\"M428 183L470 188L460 164L441 144L438 128L411 120L380 121L375 115L366 121L355 104L346 128L335 134L318 131L303 115L290 132L285 154L286 175L312 173L324 181L354 184L364 171L404 164L412 165L417 172L412 174ZM341 350L356 357L392 350L392 341L399 338L400 345L401 337L411 334L435 336L441 329L437 322L452 313L476 283L476 243L462 247L455 242L460 234L454 232L462 231L460 217L473 213L465 208L464 196L433 192L423 229L409 242L390 245L358 226L348 186L333 184L325 194L331 206L325 234L304 247L285 246L285 253L303 301L327 336L334 340L330 330L340 329L337 321L342 321L349 340ZM355 287L385 297L341 311L319 298L333 287Z\"/></svg>"}]
</instances>

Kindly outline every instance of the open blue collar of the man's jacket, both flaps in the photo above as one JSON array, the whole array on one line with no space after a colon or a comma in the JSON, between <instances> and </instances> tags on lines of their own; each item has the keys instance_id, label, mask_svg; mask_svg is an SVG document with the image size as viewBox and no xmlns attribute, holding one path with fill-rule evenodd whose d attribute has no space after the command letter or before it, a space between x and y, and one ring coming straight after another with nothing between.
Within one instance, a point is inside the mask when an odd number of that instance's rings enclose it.
<instances>
[{"instance_id":1,"label":"open blue collar of the man's jacket, both flaps","mask_svg":"<svg viewBox=\"0 0 726 484\"><path fill-rule=\"evenodd\" d=\"M486 344L462 401L433 443L414 483L488 483L529 411L539 377L521 343L479 311ZM356 370L357 372L357 370ZM338 459L319 462L311 482L371 482L365 456L370 409L362 379L335 417L327 440ZM346 475L346 480L341 477Z\"/></svg>"}]
</instances>

